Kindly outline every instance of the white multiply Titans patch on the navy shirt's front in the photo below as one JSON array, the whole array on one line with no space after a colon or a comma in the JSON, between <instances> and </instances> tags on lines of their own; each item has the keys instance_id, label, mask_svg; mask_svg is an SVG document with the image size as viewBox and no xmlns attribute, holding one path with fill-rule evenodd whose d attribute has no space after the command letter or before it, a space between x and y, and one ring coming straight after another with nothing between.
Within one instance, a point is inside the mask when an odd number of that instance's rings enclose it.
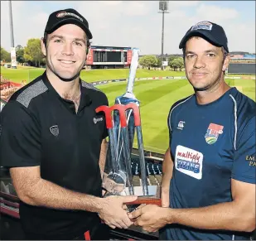
<instances>
[{"instance_id":1,"label":"white multiply Titans patch on the navy shirt's front","mask_svg":"<svg viewBox=\"0 0 256 241\"><path fill-rule=\"evenodd\" d=\"M201 152L180 145L176 147L175 168L188 176L202 178L203 159Z\"/></svg>"}]
</instances>

